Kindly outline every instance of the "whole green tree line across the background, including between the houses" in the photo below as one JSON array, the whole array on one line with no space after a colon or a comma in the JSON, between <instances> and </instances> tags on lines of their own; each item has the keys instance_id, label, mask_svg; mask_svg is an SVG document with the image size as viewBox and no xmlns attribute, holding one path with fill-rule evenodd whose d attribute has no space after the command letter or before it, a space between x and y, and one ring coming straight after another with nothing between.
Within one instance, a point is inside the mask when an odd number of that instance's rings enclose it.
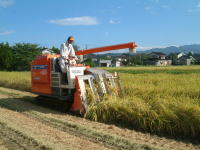
<instances>
[{"instance_id":1,"label":"whole green tree line across the background, including between the houses","mask_svg":"<svg viewBox=\"0 0 200 150\"><path fill-rule=\"evenodd\" d=\"M79 49L79 46L74 44L75 51ZM16 43L10 45L9 43L0 43L0 70L4 71L29 71L32 60L42 54L42 51L47 49L38 44L32 43ZM59 53L59 49L52 47L51 52ZM122 62L125 66L132 65L145 65L144 61L148 59L149 54L137 54L130 56L129 54L122 54L122 58L126 58L127 61ZM200 54L188 54L192 55L196 61L195 64L200 64ZM175 59L176 54L169 55L170 59ZM102 59L104 56L99 56ZM113 58L112 58L113 59ZM95 66L91 58L88 58L83 63Z\"/></svg>"}]
</instances>

